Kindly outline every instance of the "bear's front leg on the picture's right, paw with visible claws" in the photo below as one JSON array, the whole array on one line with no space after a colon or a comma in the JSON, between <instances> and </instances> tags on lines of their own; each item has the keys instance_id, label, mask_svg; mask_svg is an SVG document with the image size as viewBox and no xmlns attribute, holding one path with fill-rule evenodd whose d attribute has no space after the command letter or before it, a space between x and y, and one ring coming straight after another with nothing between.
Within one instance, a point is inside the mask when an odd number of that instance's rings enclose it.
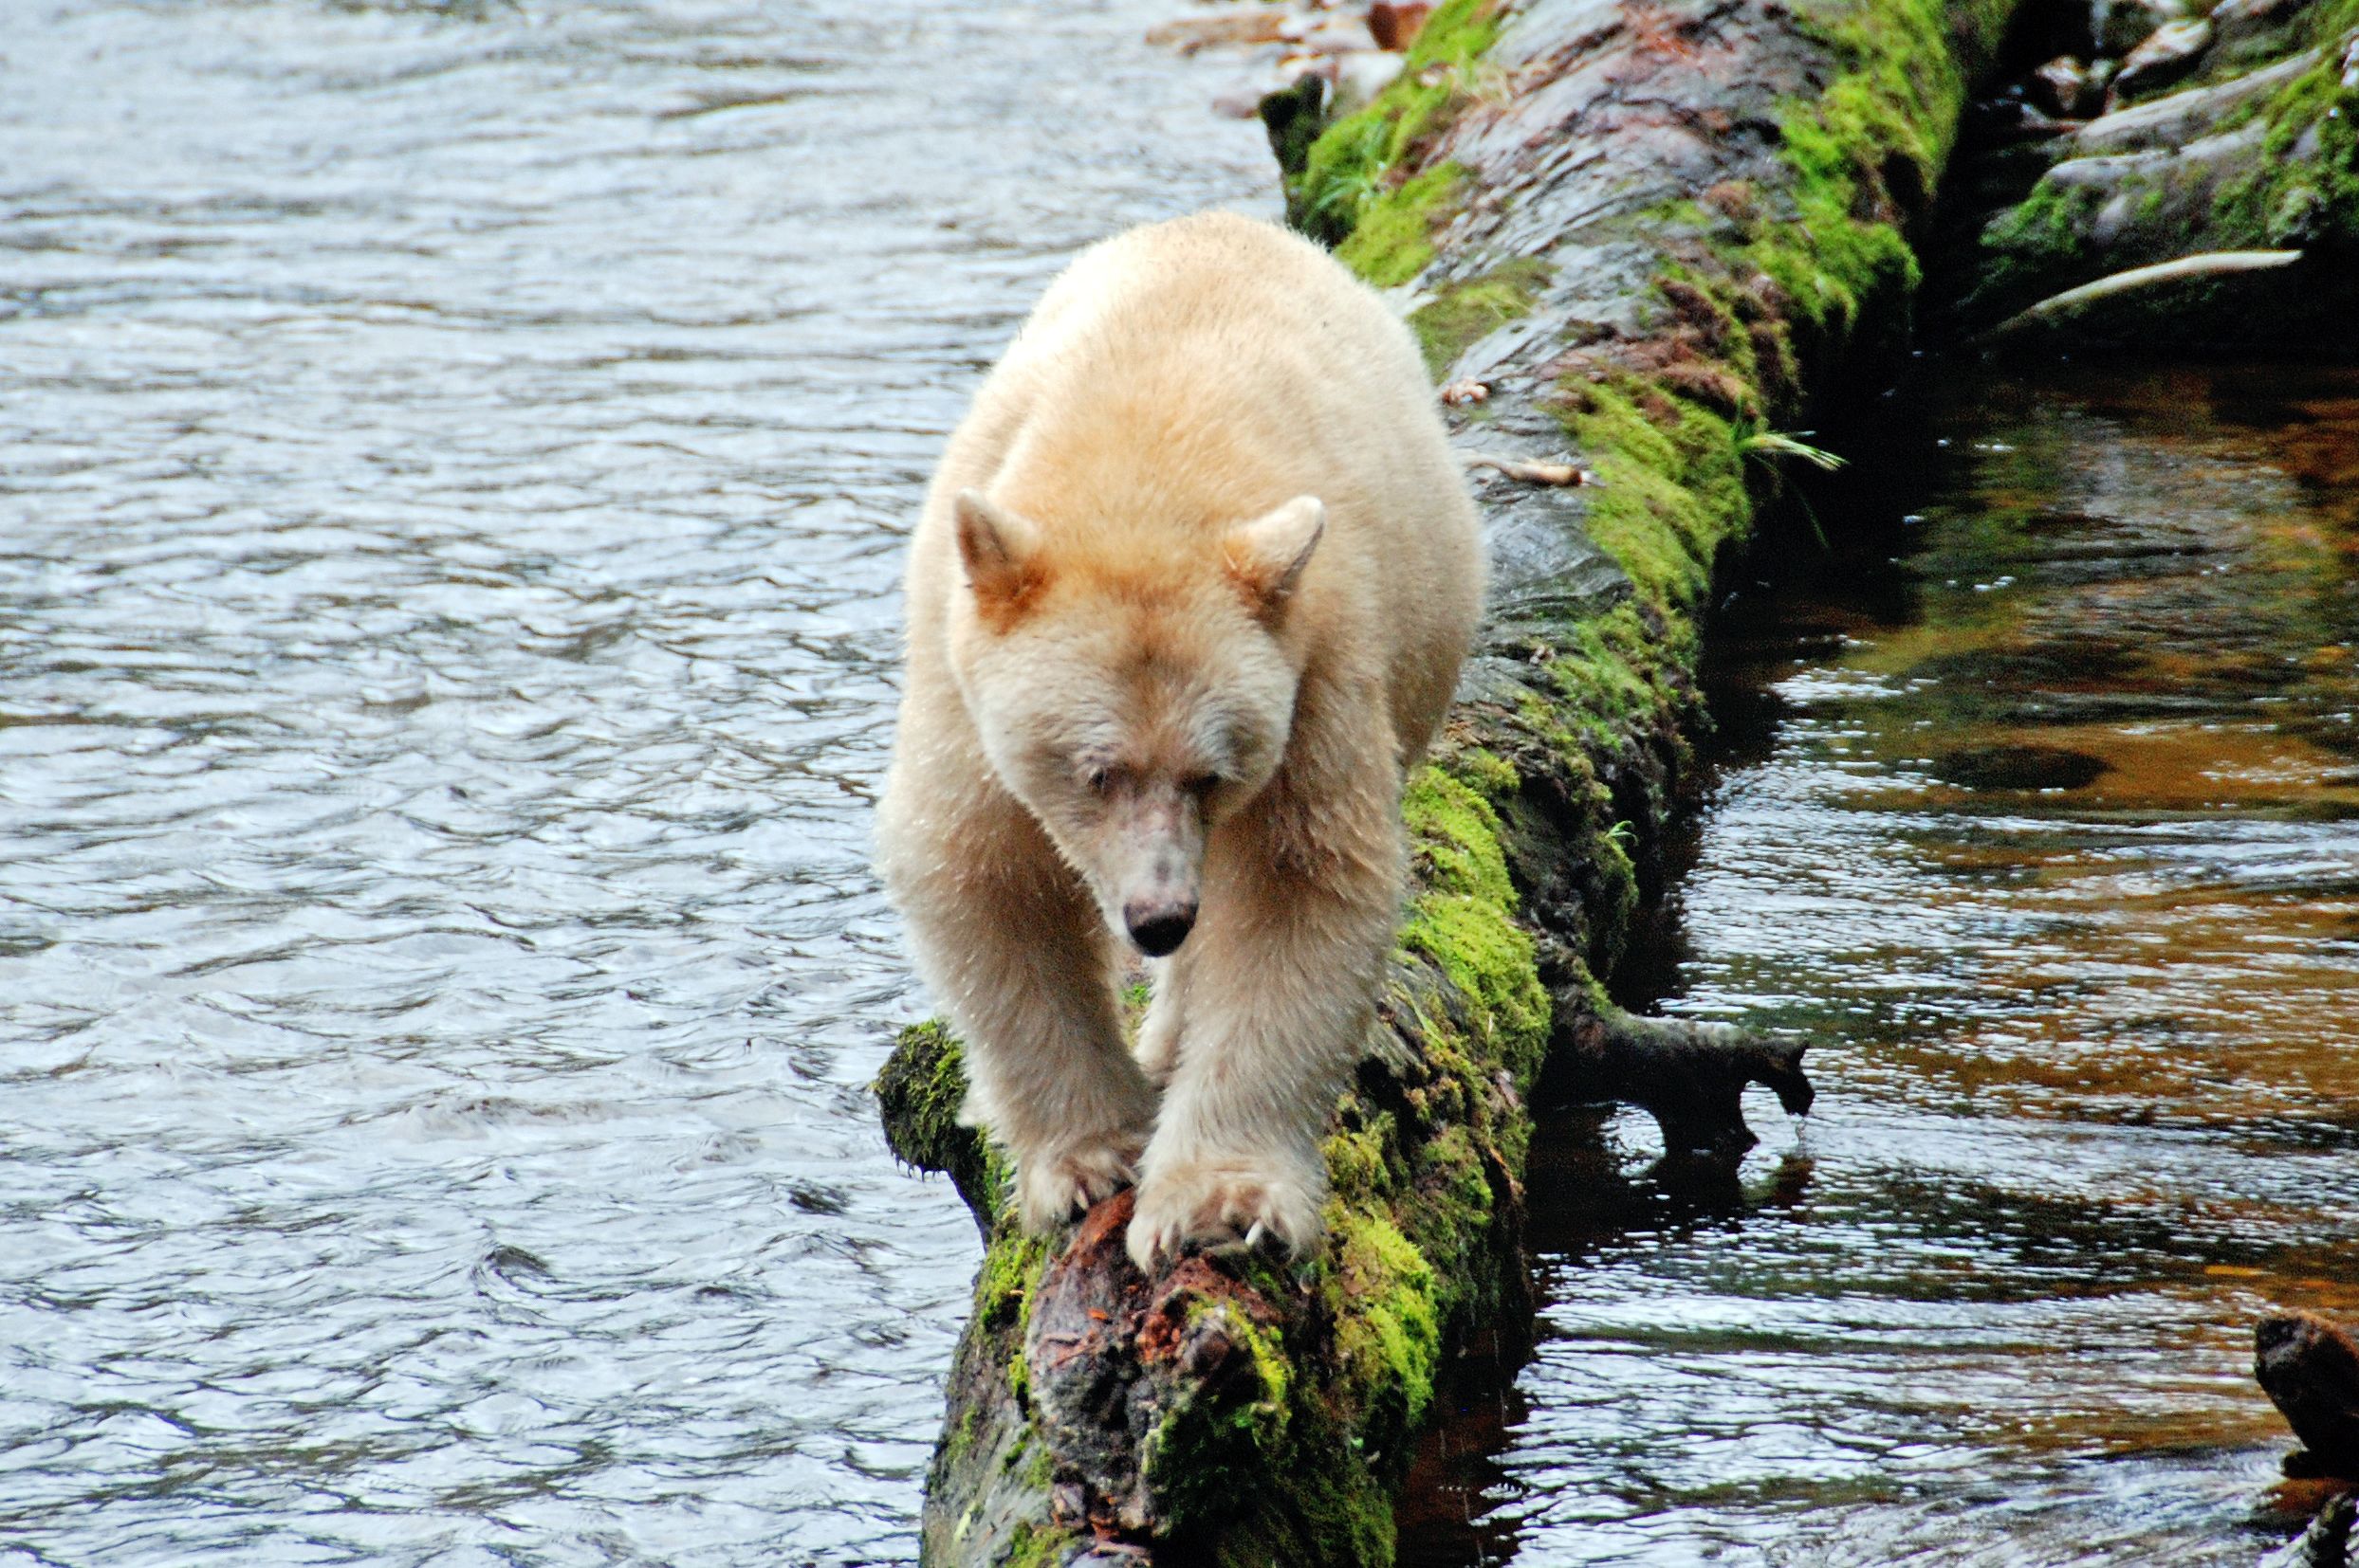
<instances>
[{"instance_id":1,"label":"bear's front leg on the picture's right, paw with visible claws","mask_svg":"<svg viewBox=\"0 0 2359 1568\"><path fill-rule=\"evenodd\" d=\"M1208 896L1165 976L1184 1035L1139 1167L1139 1269L1255 1228L1297 1252L1321 1240L1319 1134L1366 1042L1397 858L1385 846L1356 877L1272 877L1262 861L1257 887Z\"/></svg>"}]
</instances>

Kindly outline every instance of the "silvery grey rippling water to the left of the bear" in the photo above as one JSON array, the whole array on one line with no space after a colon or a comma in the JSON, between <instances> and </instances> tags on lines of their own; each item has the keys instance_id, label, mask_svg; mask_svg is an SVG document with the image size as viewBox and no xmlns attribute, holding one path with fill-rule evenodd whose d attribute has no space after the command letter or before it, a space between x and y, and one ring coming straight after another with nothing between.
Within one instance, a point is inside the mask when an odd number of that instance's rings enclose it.
<instances>
[{"instance_id":1,"label":"silvery grey rippling water to the left of the bear","mask_svg":"<svg viewBox=\"0 0 2359 1568\"><path fill-rule=\"evenodd\" d=\"M1269 210L1168 9L9 14L0 1561L915 1554L899 535L1073 248Z\"/></svg>"}]
</instances>

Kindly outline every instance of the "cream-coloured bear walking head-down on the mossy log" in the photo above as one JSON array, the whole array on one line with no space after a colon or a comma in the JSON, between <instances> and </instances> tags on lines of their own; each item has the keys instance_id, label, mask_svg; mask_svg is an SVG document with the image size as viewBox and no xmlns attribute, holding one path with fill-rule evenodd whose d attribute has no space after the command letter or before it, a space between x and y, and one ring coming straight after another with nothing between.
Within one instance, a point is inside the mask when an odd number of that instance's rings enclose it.
<instances>
[{"instance_id":1,"label":"cream-coloured bear walking head-down on the mossy log","mask_svg":"<svg viewBox=\"0 0 2359 1568\"><path fill-rule=\"evenodd\" d=\"M1135 1179L1149 1271L1321 1240L1479 606L1418 349L1316 245L1205 212L1050 285L918 521L878 823L1026 1226ZM1125 946L1161 960L1135 1056Z\"/></svg>"}]
</instances>

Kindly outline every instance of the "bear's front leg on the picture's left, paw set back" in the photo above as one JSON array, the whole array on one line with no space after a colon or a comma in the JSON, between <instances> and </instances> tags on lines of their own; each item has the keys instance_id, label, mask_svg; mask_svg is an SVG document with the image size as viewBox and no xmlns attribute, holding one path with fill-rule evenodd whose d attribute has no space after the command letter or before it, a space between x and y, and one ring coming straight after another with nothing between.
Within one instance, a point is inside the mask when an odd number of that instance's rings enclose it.
<instances>
[{"instance_id":1,"label":"bear's front leg on the picture's left, paw set back","mask_svg":"<svg viewBox=\"0 0 2359 1568\"><path fill-rule=\"evenodd\" d=\"M892 821L892 818L887 818ZM934 823L948 821L934 818ZM906 839L894 877L918 974L967 1042L967 1111L1014 1155L1017 1212L1050 1231L1125 1186L1156 1089L1123 1042L1113 938L1038 828L967 823L934 854Z\"/></svg>"}]
</instances>

